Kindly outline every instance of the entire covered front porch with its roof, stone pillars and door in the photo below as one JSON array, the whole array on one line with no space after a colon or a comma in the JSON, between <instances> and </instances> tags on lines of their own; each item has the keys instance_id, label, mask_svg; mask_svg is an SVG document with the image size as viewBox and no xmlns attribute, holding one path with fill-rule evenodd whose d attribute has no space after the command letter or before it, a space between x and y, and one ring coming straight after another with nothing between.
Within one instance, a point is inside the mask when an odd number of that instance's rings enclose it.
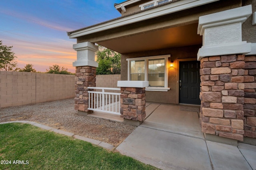
<instances>
[{"instance_id":1,"label":"entire covered front porch with its roof, stone pillars and door","mask_svg":"<svg viewBox=\"0 0 256 170\"><path fill-rule=\"evenodd\" d=\"M118 86L122 93L121 118L137 122L136 125L144 121L141 125L165 128L164 131L173 133L178 129L178 133L198 137L202 137L201 122L202 132L208 137L242 141L243 54L250 53L252 47L242 41L242 23L251 14L252 6L241 7L240 0L207 3L180 0L69 32L70 38L77 39L73 47L77 51L77 61L73 63L76 110L86 115L92 113L88 106L89 89L96 85L98 64L94 61L94 52L98 50L95 44L100 44L122 54L123 84ZM171 63L174 64L171 66ZM157 69L152 69L152 65ZM160 85L155 85L156 81ZM148 84L134 86L141 82ZM191 100L186 102L184 98ZM154 108L153 102L162 104ZM200 118L180 113L180 106L172 108L172 104L200 105ZM158 120L163 115L167 119ZM185 125L187 129L183 129Z\"/></svg>"}]
</instances>

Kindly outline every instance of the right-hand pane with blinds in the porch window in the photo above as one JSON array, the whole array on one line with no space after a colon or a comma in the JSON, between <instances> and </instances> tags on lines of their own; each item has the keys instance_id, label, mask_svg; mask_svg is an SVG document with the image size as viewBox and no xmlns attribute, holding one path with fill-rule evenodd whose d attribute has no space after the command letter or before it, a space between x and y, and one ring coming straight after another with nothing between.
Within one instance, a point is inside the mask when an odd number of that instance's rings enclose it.
<instances>
[{"instance_id":1,"label":"right-hand pane with blinds in the porch window","mask_svg":"<svg viewBox=\"0 0 256 170\"><path fill-rule=\"evenodd\" d=\"M165 62L164 59L148 60L149 86L164 87Z\"/></svg>"}]
</instances>

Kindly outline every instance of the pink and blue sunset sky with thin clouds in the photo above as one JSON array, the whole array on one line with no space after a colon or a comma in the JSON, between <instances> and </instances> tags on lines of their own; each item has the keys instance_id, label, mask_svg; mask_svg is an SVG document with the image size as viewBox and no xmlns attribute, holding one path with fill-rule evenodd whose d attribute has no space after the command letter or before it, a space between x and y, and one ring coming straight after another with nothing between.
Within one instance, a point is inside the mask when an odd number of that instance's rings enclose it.
<instances>
[{"instance_id":1,"label":"pink and blue sunset sky with thin clouds","mask_svg":"<svg viewBox=\"0 0 256 170\"><path fill-rule=\"evenodd\" d=\"M18 67L40 72L53 64L74 72L76 51L67 31L121 16L114 3L124 0L1 0L0 40L13 46Z\"/></svg>"}]
</instances>

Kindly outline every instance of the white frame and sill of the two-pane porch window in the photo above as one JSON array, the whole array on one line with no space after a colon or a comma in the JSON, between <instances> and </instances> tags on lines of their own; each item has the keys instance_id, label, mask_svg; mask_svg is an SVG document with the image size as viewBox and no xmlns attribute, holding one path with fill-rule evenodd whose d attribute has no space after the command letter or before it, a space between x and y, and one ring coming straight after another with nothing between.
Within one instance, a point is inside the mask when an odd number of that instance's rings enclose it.
<instances>
[{"instance_id":1,"label":"white frame and sill of the two-pane porch window","mask_svg":"<svg viewBox=\"0 0 256 170\"><path fill-rule=\"evenodd\" d=\"M130 63L131 61L145 61L145 68L144 68L144 74L145 74L145 81L148 81L148 60L152 59L164 59L164 65L165 65L165 70L164 70L164 87L146 87L146 91L160 91L160 92L167 92L170 90L168 87L168 58L171 57L171 55L157 55L157 56L149 56L149 57L137 57L137 58L129 58L126 59L128 61L128 81L130 81Z\"/></svg>"}]
</instances>

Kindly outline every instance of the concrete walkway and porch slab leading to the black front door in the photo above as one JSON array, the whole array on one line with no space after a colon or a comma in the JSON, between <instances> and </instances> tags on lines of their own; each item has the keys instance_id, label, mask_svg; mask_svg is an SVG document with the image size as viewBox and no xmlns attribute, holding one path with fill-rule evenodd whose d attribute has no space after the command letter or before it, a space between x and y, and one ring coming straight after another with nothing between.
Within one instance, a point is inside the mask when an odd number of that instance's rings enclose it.
<instances>
[{"instance_id":1,"label":"concrete walkway and porch slab leading to the black front door","mask_svg":"<svg viewBox=\"0 0 256 170\"><path fill-rule=\"evenodd\" d=\"M146 120L116 148L120 153L164 170L256 170L256 146L206 141L197 112L150 105Z\"/></svg>"}]
</instances>

